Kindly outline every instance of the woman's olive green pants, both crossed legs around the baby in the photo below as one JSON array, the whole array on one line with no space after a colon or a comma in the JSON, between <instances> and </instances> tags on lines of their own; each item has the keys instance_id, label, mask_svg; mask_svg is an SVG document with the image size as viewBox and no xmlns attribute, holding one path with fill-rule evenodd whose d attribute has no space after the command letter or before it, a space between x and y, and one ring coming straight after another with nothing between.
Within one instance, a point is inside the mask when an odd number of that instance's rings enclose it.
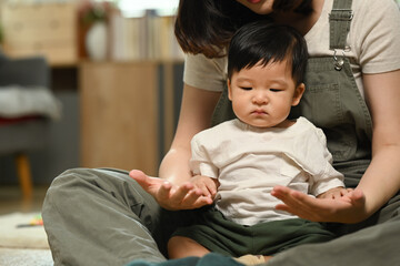
<instances>
[{"instance_id":1,"label":"woman's olive green pants, both crossed legs around the baby","mask_svg":"<svg viewBox=\"0 0 400 266\"><path fill-rule=\"evenodd\" d=\"M338 228L337 239L282 252L268 265L399 265L400 201L371 219ZM50 186L42 209L54 265L124 265L166 260L170 234L190 224L191 212L166 212L127 172L70 170ZM162 252L160 252L162 250Z\"/></svg>"}]
</instances>

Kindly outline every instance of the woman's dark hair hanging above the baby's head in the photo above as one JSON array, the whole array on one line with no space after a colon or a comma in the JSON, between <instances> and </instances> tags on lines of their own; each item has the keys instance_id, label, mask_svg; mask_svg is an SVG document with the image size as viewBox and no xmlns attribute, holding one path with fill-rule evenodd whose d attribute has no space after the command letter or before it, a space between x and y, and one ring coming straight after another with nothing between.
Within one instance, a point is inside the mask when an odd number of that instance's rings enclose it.
<instances>
[{"instance_id":1,"label":"woman's dark hair hanging above the baby's head","mask_svg":"<svg viewBox=\"0 0 400 266\"><path fill-rule=\"evenodd\" d=\"M276 0L272 8L309 14L311 2ZM257 14L234 0L180 0L174 33L183 52L218 58L224 55L223 49L240 27L260 19L266 20L268 16Z\"/></svg>"}]
</instances>

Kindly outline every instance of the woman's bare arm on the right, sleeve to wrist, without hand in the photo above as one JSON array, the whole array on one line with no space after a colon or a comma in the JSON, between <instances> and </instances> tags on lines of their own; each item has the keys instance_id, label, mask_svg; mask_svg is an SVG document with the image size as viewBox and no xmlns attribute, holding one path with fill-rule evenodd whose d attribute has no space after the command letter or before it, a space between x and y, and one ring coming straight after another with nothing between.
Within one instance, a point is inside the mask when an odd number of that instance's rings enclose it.
<instances>
[{"instance_id":1,"label":"woman's bare arm on the right, sleeve to wrist, without hand","mask_svg":"<svg viewBox=\"0 0 400 266\"><path fill-rule=\"evenodd\" d=\"M372 124L372 161L358 187L374 213L400 190L400 70L364 74Z\"/></svg>"}]
</instances>

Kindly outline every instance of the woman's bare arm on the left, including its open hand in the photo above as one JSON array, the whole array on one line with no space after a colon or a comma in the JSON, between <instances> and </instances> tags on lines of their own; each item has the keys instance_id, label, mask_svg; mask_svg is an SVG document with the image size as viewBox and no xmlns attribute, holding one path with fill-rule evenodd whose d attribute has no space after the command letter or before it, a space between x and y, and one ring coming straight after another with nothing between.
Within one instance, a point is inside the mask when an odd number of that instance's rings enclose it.
<instances>
[{"instance_id":1,"label":"woman's bare arm on the left, including its open hand","mask_svg":"<svg viewBox=\"0 0 400 266\"><path fill-rule=\"evenodd\" d=\"M210 126L219 98L219 92L184 84L177 132L159 170L161 178L149 177L140 171L130 172L130 176L167 209L197 208L212 203L211 197L202 196L201 191L188 182L191 177L190 141Z\"/></svg>"}]
</instances>

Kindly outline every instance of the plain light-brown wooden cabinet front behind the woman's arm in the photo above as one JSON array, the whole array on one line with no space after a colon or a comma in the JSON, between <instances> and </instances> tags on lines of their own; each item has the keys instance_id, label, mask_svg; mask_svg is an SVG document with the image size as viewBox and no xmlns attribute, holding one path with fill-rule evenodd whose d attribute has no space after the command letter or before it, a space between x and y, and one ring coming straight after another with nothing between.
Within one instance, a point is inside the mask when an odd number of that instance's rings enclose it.
<instances>
[{"instance_id":1,"label":"plain light-brown wooden cabinet front behind the woman's arm","mask_svg":"<svg viewBox=\"0 0 400 266\"><path fill-rule=\"evenodd\" d=\"M157 175L158 64L84 62L80 81L81 166Z\"/></svg>"}]
</instances>

